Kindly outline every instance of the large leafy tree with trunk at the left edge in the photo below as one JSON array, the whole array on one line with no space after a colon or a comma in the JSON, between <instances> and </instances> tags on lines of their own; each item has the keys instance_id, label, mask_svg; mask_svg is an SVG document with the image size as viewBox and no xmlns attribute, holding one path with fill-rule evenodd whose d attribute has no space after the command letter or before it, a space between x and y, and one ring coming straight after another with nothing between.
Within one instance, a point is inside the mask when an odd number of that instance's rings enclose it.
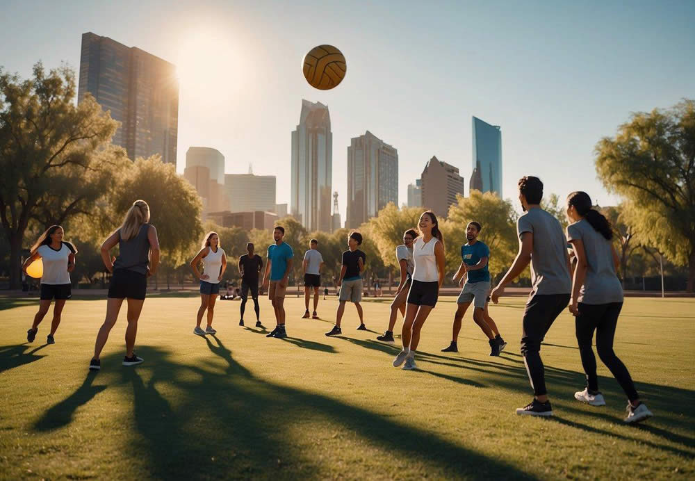
<instances>
[{"instance_id":1,"label":"large leafy tree with trunk at the left edge","mask_svg":"<svg viewBox=\"0 0 695 481\"><path fill-rule=\"evenodd\" d=\"M19 288L20 251L31 220L62 223L103 195L118 122L86 96L74 104L69 67L33 67L22 80L0 68L0 220L10 245L10 288Z\"/></svg>"}]
</instances>

